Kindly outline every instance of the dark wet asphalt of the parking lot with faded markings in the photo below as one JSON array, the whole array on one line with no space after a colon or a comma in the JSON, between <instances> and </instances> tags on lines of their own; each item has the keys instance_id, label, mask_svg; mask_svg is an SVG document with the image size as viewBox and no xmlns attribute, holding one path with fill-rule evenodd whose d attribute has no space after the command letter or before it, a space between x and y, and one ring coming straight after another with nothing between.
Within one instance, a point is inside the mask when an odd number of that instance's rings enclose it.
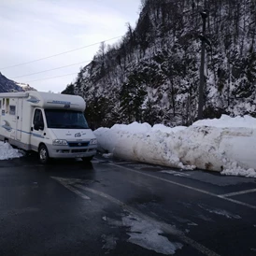
<instances>
[{"instance_id":1,"label":"dark wet asphalt of the parking lot with faded markings","mask_svg":"<svg viewBox=\"0 0 256 256\"><path fill-rule=\"evenodd\" d=\"M256 179L106 159L0 161L0 255L256 255Z\"/></svg>"}]
</instances>

